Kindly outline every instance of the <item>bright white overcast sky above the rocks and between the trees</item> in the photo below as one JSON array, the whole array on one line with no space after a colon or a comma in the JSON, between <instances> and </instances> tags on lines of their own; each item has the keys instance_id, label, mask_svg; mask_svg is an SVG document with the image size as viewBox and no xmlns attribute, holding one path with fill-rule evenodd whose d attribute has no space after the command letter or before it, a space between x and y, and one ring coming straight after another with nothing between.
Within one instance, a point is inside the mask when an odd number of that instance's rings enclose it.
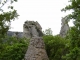
<instances>
[{"instance_id":1,"label":"bright white overcast sky above the rocks and between the trees","mask_svg":"<svg viewBox=\"0 0 80 60\"><path fill-rule=\"evenodd\" d=\"M23 23L32 20L38 21L43 30L51 28L53 35L59 34L61 17L66 15L61 9L67 4L68 0L19 0L14 7L20 16L11 23L10 31L23 31Z\"/></svg>"}]
</instances>

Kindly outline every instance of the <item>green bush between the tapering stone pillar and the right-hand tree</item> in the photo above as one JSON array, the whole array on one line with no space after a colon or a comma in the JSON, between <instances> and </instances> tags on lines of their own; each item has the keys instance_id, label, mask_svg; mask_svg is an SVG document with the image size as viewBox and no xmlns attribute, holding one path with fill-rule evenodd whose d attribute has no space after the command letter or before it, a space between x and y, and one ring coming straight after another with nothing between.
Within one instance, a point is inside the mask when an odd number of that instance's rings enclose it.
<instances>
[{"instance_id":1,"label":"green bush between the tapering stone pillar and the right-hand tree","mask_svg":"<svg viewBox=\"0 0 80 60\"><path fill-rule=\"evenodd\" d=\"M60 36L43 36L46 51L50 60L63 60L62 56L68 53L69 40Z\"/></svg>"}]
</instances>

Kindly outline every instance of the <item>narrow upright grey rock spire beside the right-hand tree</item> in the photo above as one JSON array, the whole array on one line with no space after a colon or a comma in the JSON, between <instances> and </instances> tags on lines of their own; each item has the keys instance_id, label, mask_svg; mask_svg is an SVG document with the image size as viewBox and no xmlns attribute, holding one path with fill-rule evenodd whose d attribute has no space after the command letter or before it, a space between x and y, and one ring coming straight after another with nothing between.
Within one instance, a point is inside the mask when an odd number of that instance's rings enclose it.
<instances>
[{"instance_id":1,"label":"narrow upright grey rock spire beside the right-hand tree","mask_svg":"<svg viewBox=\"0 0 80 60\"><path fill-rule=\"evenodd\" d=\"M65 37L68 30L69 30L69 25L68 25L68 20L67 17L62 18L62 23L61 23L61 30L60 30L60 36Z\"/></svg>"}]
</instances>

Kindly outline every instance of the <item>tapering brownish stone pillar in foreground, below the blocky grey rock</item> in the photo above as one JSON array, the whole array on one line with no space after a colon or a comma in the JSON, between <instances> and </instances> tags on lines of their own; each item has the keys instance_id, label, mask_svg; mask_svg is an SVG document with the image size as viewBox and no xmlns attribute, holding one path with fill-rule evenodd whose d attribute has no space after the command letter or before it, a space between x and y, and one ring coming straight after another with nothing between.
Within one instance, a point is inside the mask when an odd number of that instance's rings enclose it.
<instances>
[{"instance_id":1,"label":"tapering brownish stone pillar in foreground, below the blocky grey rock","mask_svg":"<svg viewBox=\"0 0 80 60\"><path fill-rule=\"evenodd\" d=\"M41 37L33 37L30 40L24 60L49 60Z\"/></svg>"}]
</instances>

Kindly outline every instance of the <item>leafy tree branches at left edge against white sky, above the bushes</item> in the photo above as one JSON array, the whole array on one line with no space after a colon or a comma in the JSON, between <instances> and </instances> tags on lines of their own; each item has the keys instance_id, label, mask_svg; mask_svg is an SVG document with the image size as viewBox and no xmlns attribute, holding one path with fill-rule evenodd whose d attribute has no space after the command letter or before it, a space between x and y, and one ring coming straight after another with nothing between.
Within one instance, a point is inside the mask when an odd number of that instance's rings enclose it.
<instances>
[{"instance_id":1,"label":"leafy tree branches at left edge against white sky, above the bushes","mask_svg":"<svg viewBox=\"0 0 80 60\"><path fill-rule=\"evenodd\" d=\"M7 2L13 4L14 2L17 2L17 0L0 0L0 40L8 31L10 22L19 16L13 6L6 6ZM5 12L5 10L2 9L4 6L6 6L8 10L11 10Z\"/></svg>"}]
</instances>

